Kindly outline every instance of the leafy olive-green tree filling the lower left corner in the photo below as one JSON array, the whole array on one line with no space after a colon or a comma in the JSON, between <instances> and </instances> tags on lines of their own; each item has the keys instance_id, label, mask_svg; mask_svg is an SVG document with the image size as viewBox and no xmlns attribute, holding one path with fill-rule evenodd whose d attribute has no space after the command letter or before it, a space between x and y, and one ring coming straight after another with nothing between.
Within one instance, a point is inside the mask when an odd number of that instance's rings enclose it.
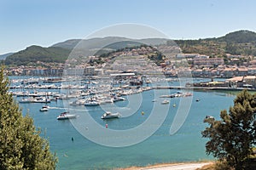
<instances>
[{"instance_id":1,"label":"leafy olive-green tree filling the lower left corner","mask_svg":"<svg viewBox=\"0 0 256 170\"><path fill-rule=\"evenodd\" d=\"M30 116L22 116L0 70L0 169L55 169L57 158Z\"/></svg>"}]
</instances>

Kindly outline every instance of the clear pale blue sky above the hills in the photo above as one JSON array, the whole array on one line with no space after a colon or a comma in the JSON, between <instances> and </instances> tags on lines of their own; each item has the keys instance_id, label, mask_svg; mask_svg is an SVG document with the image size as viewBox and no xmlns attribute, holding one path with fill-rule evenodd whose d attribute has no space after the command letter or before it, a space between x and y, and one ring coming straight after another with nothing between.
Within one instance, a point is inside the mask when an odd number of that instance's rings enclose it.
<instances>
[{"instance_id":1,"label":"clear pale blue sky above the hills","mask_svg":"<svg viewBox=\"0 0 256 170\"><path fill-rule=\"evenodd\" d=\"M150 26L170 39L256 31L255 7L254 0L0 0L0 54L123 23Z\"/></svg>"}]
</instances>

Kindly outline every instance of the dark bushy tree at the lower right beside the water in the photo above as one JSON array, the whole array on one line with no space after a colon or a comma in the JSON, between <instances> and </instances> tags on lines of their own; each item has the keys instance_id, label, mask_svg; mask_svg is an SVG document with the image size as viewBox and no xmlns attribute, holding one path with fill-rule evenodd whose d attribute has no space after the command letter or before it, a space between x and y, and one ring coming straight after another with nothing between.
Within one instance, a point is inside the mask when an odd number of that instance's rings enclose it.
<instances>
[{"instance_id":1,"label":"dark bushy tree at the lower right beside the water","mask_svg":"<svg viewBox=\"0 0 256 170\"><path fill-rule=\"evenodd\" d=\"M220 121L207 116L204 122L210 127L202 131L202 137L210 139L206 144L207 154L227 161L230 167L244 169L256 144L255 111L256 94L244 90L237 94L229 114L221 111Z\"/></svg>"}]
</instances>

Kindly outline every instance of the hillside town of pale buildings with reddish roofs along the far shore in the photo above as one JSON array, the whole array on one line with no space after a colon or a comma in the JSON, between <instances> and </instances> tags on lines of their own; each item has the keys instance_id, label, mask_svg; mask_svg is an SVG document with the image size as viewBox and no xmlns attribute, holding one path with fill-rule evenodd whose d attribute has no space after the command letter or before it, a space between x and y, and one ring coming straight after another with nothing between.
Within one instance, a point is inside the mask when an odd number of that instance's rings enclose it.
<instances>
[{"instance_id":1,"label":"hillside town of pale buildings with reddish roofs along the far shore","mask_svg":"<svg viewBox=\"0 0 256 170\"><path fill-rule=\"evenodd\" d=\"M172 58L164 59L160 65L155 65L141 51L132 50L123 52L116 56L114 62L108 63L108 59L103 64L89 65L83 63L71 67L62 63L38 62L39 66L20 65L8 67L9 76L39 76L39 77L60 77L64 70L68 70L71 75L97 76L119 73L122 71L133 71L141 74L161 72L166 77L184 77L189 73L192 77L245 77L256 74L256 59L252 56L241 56L227 54L224 58L210 57L201 54L176 54ZM151 52L151 51L149 51ZM143 52L145 53L145 52ZM118 59L122 57L122 59ZM98 57L90 56L90 60ZM148 65L148 63L150 63Z\"/></svg>"}]
</instances>

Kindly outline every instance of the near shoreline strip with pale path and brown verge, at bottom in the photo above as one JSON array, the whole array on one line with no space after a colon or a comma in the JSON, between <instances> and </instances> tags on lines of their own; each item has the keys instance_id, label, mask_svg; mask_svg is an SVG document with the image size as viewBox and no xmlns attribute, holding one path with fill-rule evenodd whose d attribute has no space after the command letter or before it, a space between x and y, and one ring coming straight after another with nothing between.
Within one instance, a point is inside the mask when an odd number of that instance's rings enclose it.
<instances>
[{"instance_id":1,"label":"near shoreline strip with pale path and brown verge, at bottom","mask_svg":"<svg viewBox=\"0 0 256 170\"><path fill-rule=\"evenodd\" d=\"M183 169L186 168L201 168L206 165L213 164L215 161L184 161L184 162L170 162L170 163L156 163L154 165L147 165L143 167L131 166L131 167L120 167L114 168L114 170L164 170L164 169Z\"/></svg>"}]
</instances>

